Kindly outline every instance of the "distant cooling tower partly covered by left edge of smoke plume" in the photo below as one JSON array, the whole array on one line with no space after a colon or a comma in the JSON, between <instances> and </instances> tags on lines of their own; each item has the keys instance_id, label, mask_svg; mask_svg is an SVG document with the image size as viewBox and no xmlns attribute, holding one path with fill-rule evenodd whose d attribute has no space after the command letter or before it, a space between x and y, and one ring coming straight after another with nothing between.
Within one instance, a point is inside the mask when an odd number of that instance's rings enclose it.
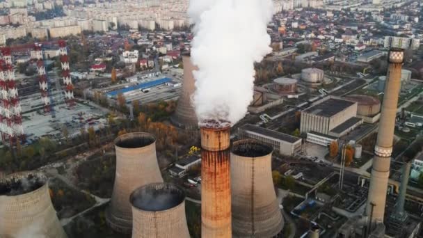
<instances>
[{"instance_id":1,"label":"distant cooling tower partly covered by left edge of smoke plume","mask_svg":"<svg viewBox=\"0 0 423 238\"><path fill-rule=\"evenodd\" d=\"M185 129L198 129L198 120L194 107L191 104L191 95L195 90L195 80L193 70L198 70L191 62L189 52L182 56L184 63L184 81L182 82L182 93L179 95L175 113L170 118L173 124Z\"/></svg>"}]
</instances>

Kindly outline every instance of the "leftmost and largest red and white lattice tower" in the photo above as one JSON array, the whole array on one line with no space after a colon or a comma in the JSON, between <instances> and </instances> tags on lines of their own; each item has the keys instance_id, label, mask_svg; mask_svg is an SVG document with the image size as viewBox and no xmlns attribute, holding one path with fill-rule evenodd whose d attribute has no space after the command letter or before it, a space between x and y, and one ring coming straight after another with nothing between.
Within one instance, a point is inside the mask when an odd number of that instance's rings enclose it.
<instances>
[{"instance_id":1,"label":"leftmost and largest red and white lattice tower","mask_svg":"<svg viewBox=\"0 0 423 238\"><path fill-rule=\"evenodd\" d=\"M12 65L12 56L10 55L10 48L4 47L1 49L3 54L3 60L6 62L5 70L3 73L5 74L6 84L7 84L7 91L8 91L8 99L9 104L5 107L6 111L6 122L8 124L9 133L9 140L10 143L13 143L16 136L25 140L24 134L24 127L22 127L22 109L21 104L19 102L19 95L17 93L17 88L15 85L15 72L13 71Z\"/></svg>"}]
</instances>

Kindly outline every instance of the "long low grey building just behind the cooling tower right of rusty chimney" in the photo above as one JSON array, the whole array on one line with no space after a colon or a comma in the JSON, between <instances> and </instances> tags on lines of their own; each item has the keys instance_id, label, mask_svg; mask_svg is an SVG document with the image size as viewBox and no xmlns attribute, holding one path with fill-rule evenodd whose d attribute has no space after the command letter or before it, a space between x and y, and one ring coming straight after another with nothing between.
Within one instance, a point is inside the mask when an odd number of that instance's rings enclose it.
<instances>
[{"instance_id":1,"label":"long low grey building just behind the cooling tower right of rusty chimney","mask_svg":"<svg viewBox=\"0 0 423 238\"><path fill-rule=\"evenodd\" d=\"M270 145L279 154L294 155L301 151L301 138L271 129L246 124L238 128L240 138L252 138Z\"/></svg>"}]
</instances>

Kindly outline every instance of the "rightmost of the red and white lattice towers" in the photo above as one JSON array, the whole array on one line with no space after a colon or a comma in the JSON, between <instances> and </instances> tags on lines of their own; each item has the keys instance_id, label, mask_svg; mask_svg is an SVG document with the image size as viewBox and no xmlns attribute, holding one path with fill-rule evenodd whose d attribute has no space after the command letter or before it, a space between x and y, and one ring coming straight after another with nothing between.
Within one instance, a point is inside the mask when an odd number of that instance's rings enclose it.
<instances>
[{"instance_id":1,"label":"rightmost of the red and white lattice towers","mask_svg":"<svg viewBox=\"0 0 423 238\"><path fill-rule=\"evenodd\" d=\"M74 105L74 85L70 78L70 67L67 59L67 47L65 40L59 40L58 46L60 47L61 63L62 63L62 76L63 84L65 84L65 101L68 106Z\"/></svg>"}]
</instances>

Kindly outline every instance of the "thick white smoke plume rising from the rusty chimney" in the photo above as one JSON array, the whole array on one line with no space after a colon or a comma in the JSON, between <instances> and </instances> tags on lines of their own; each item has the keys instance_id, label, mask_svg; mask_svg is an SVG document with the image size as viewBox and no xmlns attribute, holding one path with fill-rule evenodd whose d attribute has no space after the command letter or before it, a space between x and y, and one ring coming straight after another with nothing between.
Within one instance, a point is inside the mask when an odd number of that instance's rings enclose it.
<instances>
[{"instance_id":1,"label":"thick white smoke plume rising from the rusty chimney","mask_svg":"<svg viewBox=\"0 0 423 238\"><path fill-rule=\"evenodd\" d=\"M253 100L254 63L271 52L271 0L190 0L195 24L193 104L200 123L241 120Z\"/></svg>"}]
</instances>

